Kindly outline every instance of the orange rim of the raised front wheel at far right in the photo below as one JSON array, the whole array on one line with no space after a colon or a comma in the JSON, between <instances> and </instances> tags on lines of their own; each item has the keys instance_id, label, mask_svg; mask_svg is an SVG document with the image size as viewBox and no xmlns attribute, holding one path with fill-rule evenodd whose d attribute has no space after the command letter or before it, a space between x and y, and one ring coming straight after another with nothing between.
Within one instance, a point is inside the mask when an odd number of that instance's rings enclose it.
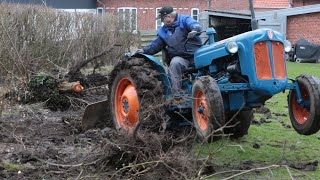
<instances>
[{"instance_id":1,"label":"orange rim of the raised front wheel at far right","mask_svg":"<svg viewBox=\"0 0 320 180\"><path fill-rule=\"evenodd\" d=\"M304 87L300 87L301 97L303 101L307 101L309 99L309 94L307 93L306 89ZM294 92L292 97L292 112L294 115L294 118L299 124L304 124L308 120L309 111L307 108L303 108L299 106L297 103L297 95Z\"/></svg>"}]
</instances>

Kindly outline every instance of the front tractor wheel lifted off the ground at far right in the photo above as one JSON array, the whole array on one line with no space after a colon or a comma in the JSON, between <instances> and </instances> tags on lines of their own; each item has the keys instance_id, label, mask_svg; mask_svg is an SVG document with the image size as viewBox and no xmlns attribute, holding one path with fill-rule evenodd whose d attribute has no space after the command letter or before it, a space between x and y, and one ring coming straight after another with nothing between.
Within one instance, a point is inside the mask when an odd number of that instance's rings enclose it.
<instances>
[{"instance_id":1,"label":"front tractor wheel lifted off the ground at far right","mask_svg":"<svg viewBox=\"0 0 320 180\"><path fill-rule=\"evenodd\" d=\"M288 95L289 115L293 128L302 135L310 135L320 129L320 85L319 80L310 75L297 77L305 107L297 103L295 90Z\"/></svg>"}]
</instances>

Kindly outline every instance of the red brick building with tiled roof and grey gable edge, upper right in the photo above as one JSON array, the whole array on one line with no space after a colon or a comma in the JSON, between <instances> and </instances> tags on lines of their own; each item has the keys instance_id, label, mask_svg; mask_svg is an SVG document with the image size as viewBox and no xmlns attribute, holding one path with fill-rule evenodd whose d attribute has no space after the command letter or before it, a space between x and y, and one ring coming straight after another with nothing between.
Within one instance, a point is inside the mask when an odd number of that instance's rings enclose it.
<instances>
[{"instance_id":1,"label":"red brick building with tiled roof and grey gable edge, upper right","mask_svg":"<svg viewBox=\"0 0 320 180\"><path fill-rule=\"evenodd\" d=\"M255 0L257 12L273 13L274 16L286 15L284 34L295 43L300 38L320 44L320 5L319 0ZM300 7L300 8L299 8ZM302 8L304 7L304 8ZM314 10L318 9L318 10ZM290 12L291 11L291 12ZM294 12L295 11L295 12Z\"/></svg>"}]
</instances>

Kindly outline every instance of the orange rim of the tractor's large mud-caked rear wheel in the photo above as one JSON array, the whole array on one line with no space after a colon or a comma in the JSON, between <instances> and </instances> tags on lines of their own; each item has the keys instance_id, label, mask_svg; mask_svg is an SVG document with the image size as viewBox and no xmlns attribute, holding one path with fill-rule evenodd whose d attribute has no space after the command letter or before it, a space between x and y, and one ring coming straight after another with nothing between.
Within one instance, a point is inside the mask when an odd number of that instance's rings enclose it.
<instances>
[{"instance_id":1,"label":"orange rim of the tractor's large mud-caked rear wheel","mask_svg":"<svg viewBox=\"0 0 320 180\"><path fill-rule=\"evenodd\" d=\"M136 88L127 77L119 80L114 98L115 116L119 127L130 130L139 121L139 99Z\"/></svg>"}]
</instances>

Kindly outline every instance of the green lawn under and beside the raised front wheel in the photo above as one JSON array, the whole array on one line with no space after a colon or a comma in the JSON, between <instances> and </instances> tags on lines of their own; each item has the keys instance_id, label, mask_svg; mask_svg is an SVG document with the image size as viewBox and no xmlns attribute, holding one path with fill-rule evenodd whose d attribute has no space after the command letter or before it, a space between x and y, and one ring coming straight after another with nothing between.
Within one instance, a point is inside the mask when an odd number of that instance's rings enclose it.
<instances>
[{"instance_id":1,"label":"green lawn under and beside the raised front wheel","mask_svg":"<svg viewBox=\"0 0 320 180\"><path fill-rule=\"evenodd\" d=\"M300 74L320 77L320 64L288 62L287 69L288 77L292 79ZM272 113L272 118L268 119L270 123L251 125L248 135L243 138L222 139L214 143L198 145L196 149L202 156L213 157L218 165L218 172L239 170L244 162L250 162L250 168L263 168L260 171L236 176L235 179L291 179L290 174L296 179L320 179L320 168L316 171L298 171L292 168L288 171L284 166L264 168L271 165L290 165L316 160L320 162L320 133L303 136L295 132L292 127L285 127L291 126L287 93L286 91L277 94L266 102L266 107ZM255 114L255 119L258 121L262 117L264 115ZM259 148L254 148L257 145ZM239 172L222 173L208 179L222 179Z\"/></svg>"}]
</instances>

